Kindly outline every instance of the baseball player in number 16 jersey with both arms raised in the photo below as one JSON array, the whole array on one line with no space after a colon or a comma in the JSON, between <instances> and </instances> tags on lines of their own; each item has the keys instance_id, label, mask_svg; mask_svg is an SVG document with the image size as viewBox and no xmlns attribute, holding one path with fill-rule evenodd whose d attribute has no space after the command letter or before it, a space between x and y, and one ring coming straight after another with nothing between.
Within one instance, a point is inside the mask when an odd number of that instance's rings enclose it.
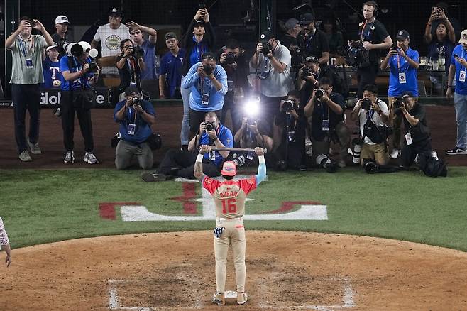
<instances>
[{"instance_id":1,"label":"baseball player in number 16 jersey with both arms raised","mask_svg":"<svg viewBox=\"0 0 467 311\"><path fill-rule=\"evenodd\" d=\"M214 229L214 253L216 255L216 293L212 302L216 305L225 305L224 288L226 285L227 252L229 246L234 251L235 277L237 283L237 303L243 305L247 300L245 293L245 227L243 227L243 214L245 214L246 195L262 182L266 177L266 164L263 148L256 147L258 155L258 174L246 179L234 180L237 173L236 164L232 161L224 162L221 175L224 180L214 180L203 174L202 159L205 153L211 151L211 146L202 145L194 163L194 176L202 182L216 204L216 228Z\"/></svg>"}]
</instances>

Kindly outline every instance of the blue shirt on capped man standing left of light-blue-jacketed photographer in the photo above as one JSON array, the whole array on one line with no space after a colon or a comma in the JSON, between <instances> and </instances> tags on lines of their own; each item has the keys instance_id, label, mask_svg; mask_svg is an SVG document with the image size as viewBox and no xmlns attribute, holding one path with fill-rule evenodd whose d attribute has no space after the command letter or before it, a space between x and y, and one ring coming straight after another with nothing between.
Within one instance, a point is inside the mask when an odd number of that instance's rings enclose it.
<instances>
[{"instance_id":1,"label":"blue shirt on capped man standing left of light-blue-jacketed photographer","mask_svg":"<svg viewBox=\"0 0 467 311\"><path fill-rule=\"evenodd\" d=\"M160 75L165 75L165 82L169 87L170 97L175 96L175 89L180 89L180 84L182 84L182 65L185 53L187 53L187 51L180 48L175 57L169 51L165 53L162 60L160 60Z\"/></svg>"}]
</instances>

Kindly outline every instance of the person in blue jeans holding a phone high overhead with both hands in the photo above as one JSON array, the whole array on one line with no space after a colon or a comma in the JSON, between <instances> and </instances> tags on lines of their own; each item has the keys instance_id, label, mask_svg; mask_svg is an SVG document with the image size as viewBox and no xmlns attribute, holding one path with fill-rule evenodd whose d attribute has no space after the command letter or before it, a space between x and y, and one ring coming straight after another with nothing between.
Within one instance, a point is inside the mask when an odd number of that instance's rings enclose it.
<instances>
[{"instance_id":1,"label":"person in blue jeans holding a phone high overhead with both hands","mask_svg":"<svg viewBox=\"0 0 467 311\"><path fill-rule=\"evenodd\" d=\"M187 50L182 66L183 78L194 64L202 61L202 55L214 50L214 29L209 23L209 13L207 9L199 9L194 15L194 19L189 24L187 33L183 37L183 47ZM187 150L189 141L189 106L190 106L190 88L181 89L183 99L183 119L182 131L180 131L180 141L182 150Z\"/></svg>"}]
</instances>

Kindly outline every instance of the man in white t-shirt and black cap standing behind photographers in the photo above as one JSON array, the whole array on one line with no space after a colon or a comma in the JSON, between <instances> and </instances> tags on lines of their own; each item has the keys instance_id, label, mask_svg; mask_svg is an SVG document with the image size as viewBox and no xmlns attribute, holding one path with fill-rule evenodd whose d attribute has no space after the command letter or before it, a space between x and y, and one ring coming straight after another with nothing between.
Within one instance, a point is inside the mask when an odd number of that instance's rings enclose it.
<instances>
[{"instance_id":1,"label":"man in white t-shirt and black cap standing behind photographers","mask_svg":"<svg viewBox=\"0 0 467 311\"><path fill-rule=\"evenodd\" d=\"M92 48L98 48L101 43L101 56L114 56L119 54L120 43L124 39L129 39L128 27L121 23L121 11L117 8L112 8L109 11L109 23L99 26L94 40L92 40ZM118 75L119 72L115 67L103 67L104 75Z\"/></svg>"}]
</instances>

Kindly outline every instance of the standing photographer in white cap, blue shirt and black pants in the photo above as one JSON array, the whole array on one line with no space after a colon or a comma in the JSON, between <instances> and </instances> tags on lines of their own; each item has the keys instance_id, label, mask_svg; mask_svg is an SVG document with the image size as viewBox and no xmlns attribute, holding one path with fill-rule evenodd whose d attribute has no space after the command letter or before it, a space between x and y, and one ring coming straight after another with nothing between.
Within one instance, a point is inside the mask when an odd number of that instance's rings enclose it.
<instances>
[{"instance_id":1,"label":"standing photographer in white cap, blue shirt and black pants","mask_svg":"<svg viewBox=\"0 0 467 311\"><path fill-rule=\"evenodd\" d=\"M60 59L60 71L62 72L62 96L60 97L60 109L62 110L63 143L66 154L64 163L75 163L75 113L78 116L79 128L84 138L84 162L89 164L99 163L94 155L94 138L92 137L91 108L94 106L94 92L91 85L97 82L97 72L90 72L89 43L81 41L82 49L77 50L72 56Z\"/></svg>"}]
</instances>

